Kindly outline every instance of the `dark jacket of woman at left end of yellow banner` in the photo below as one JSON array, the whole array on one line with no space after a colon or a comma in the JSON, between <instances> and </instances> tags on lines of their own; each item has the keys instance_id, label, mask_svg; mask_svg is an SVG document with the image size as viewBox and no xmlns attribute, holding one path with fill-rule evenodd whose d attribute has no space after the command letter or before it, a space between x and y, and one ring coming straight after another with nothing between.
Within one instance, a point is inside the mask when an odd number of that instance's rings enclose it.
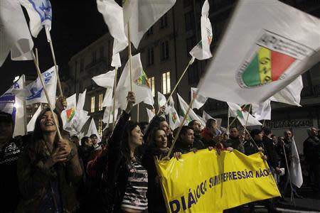
<instances>
[{"instance_id":1,"label":"dark jacket of woman at left end of yellow banner","mask_svg":"<svg viewBox=\"0 0 320 213\"><path fill-rule=\"evenodd\" d=\"M154 157L162 158L167 155L169 148L160 149L155 144L149 144L142 157L142 165L148 171L148 212L166 212L166 204L162 195L159 175L156 172Z\"/></svg>"}]
</instances>

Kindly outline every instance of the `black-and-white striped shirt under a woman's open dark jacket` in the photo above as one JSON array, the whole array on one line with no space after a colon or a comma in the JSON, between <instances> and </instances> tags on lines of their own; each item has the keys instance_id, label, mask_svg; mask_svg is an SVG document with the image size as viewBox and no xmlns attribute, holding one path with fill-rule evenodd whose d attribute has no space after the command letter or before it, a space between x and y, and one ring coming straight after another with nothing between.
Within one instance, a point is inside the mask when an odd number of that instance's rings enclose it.
<instances>
[{"instance_id":1,"label":"black-and-white striped shirt under a woman's open dark jacket","mask_svg":"<svg viewBox=\"0 0 320 213\"><path fill-rule=\"evenodd\" d=\"M126 191L122 200L122 208L137 210L148 209L146 191L148 190L148 173L137 160L131 161Z\"/></svg>"}]
</instances>

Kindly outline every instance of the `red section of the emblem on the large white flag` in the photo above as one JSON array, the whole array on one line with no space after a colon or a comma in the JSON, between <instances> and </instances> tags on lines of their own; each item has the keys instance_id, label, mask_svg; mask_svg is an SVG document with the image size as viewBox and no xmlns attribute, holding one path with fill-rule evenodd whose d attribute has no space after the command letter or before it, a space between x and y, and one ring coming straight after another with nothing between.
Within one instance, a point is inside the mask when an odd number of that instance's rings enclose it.
<instances>
[{"instance_id":1,"label":"red section of the emblem on the large white flag","mask_svg":"<svg viewBox=\"0 0 320 213\"><path fill-rule=\"evenodd\" d=\"M272 81L278 80L283 72L286 71L295 60L296 59L291 56L271 51Z\"/></svg>"}]
</instances>

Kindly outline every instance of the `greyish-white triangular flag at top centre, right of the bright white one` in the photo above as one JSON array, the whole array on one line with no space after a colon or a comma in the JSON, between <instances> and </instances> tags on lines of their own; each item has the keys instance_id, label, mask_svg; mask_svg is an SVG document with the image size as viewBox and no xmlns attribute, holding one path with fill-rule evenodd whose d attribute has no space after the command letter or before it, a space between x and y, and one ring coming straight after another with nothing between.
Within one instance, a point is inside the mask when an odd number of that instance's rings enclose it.
<instances>
[{"instance_id":1,"label":"greyish-white triangular flag at top centre, right of the bright white one","mask_svg":"<svg viewBox=\"0 0 320 213\"><path fill-rule=\"evenodd\" d=\"M127 24L130 23L130 38L137 49L144 33L158 21L161 16L176 4L176 0L129 1L122 3L124 31L128 35ZM128 36L127 36L128 37Z\"/></svg>"}]
</instances>

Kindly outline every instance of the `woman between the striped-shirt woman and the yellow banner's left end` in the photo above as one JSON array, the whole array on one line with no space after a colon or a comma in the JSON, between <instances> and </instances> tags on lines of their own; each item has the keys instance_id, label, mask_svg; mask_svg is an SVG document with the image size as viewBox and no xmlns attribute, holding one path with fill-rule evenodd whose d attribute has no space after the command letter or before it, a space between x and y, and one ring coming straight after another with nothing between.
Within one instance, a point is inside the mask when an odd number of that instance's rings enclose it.
<instances>
[{"instance_id":1,"label":"woman between the striped-shirt woman and the yellow banner's left end","mask_svg":"<svg viewBox=\"0 0 320 213\"><path fill-rule=\"evenodd\" d=\"M166 204L162 196L159 175L156 171L154 158L166 157L169 152L166 132L163 129L154 129L148 139L148 147L142 158L142 165L148 171L148 211L166 212Z\"/></svg>"}]
</instances>

